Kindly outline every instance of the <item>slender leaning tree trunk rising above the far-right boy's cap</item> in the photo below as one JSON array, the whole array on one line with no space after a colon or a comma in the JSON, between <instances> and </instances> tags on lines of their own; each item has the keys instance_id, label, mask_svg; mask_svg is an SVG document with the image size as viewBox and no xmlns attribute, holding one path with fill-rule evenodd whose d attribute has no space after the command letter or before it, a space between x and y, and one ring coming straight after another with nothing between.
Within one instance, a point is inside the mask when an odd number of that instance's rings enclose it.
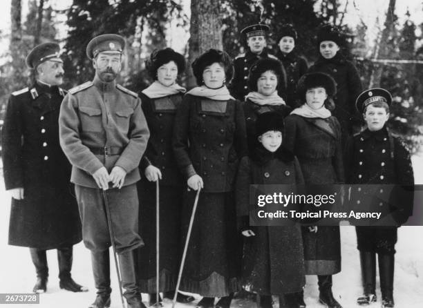
<instances>
[{"instance_id":1,"label":"slender leaning tree trunk rising above the far-right boy's cap","mask_svg":"<svg viewBox=\"0 0 423 308\"><path fill-rule=\"evenodd\" d=\"M376 52L375 58L378 59L379 57L387 57L387 46L386 42L388 41L389 34L392 30L392 18L391 16L395 12L395 2L396 0L389 0L388 11L386 12L386 19L384 23L384 30L382 31L382 35L380 37L379 49ZM370 84L369 87L377 87L380 86L380 78L382 77L383 72L383 64L376 64L375 70L373 70L372 75L370 76Z\"/></svg>"}]
</instances>

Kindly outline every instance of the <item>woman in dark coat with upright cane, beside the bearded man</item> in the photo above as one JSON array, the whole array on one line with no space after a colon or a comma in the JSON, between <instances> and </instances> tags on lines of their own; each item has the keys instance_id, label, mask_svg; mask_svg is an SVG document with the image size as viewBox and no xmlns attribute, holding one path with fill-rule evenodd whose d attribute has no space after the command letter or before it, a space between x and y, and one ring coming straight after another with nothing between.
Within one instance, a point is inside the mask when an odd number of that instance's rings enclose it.
<instances>
[{"instance_id":1,"label":"woman in dark coat with upright cane, beside the bearded man","mask_svg":"<svg viewBox=\"0 0 423 308\"><path fill-rule=\"evenodd\" d=\"M176 110L185 88L176 78L185 70L185 59L171 48L154 51L147 62L153 84L140 93L142 110L150 130L149 143L140 164L140 234L145 246L138 249L138 285L156 301L156 181L159 181L159 287L165 298L173 298L180 264L180 211L182 175L173 155L171 137ZM178 293L178 302L190 302L192 296Z\"/></svg>"}]
</instances>

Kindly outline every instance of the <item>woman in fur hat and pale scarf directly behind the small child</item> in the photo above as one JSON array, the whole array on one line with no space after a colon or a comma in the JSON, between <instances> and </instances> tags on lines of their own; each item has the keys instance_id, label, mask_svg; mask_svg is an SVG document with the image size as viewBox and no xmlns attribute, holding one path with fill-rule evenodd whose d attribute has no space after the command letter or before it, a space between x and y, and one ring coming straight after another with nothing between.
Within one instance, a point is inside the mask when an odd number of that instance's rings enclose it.
<instances>
[{"instance_id":1,"label":"woman in fur hat and pale scarf directly behind the small child","mask_svg":"<svg viewBox=\"0 0 423 308\"><path fill-rule=\"evenodd\" d=\"M292 109L286 106L285 101L278 95L279 88L285 89L285 84L285 70L279 60L263 58L250 68L248 86L251 92L245 96L244 104L250 153L256 147L255 123L259 115L273 111L283 118L290 114Z\"/></svg>"}]
</instances>

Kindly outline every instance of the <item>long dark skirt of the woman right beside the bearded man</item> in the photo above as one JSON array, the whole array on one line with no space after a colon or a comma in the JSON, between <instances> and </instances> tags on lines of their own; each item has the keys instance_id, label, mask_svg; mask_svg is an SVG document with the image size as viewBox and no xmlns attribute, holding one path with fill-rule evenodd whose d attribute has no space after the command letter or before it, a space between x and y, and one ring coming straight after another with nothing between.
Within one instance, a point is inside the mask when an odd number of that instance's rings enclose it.
<instances>
[{"instance_id":1,"label":"long dark skirt of the woman right beside the bearded man","mask_svg":"<svg viewBox=\"0 0 423 308\"><path fill-rule=\"evenodd\" d=\"M181 186L159 186L159 291L176 288L180 266ZM145 246L138 249L138 285L142 293L156 293L156 182L138 182L140 235Z\"/></svg>"}]
</instances>

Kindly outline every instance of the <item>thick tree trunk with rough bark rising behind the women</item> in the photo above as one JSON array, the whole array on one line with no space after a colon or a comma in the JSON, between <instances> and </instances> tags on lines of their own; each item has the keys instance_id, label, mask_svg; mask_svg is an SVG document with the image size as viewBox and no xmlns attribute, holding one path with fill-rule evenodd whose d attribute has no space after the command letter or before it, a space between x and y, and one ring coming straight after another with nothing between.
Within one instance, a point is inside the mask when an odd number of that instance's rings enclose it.
<instances>
[{"instance_id":1,"label":"thick tree trunk with rough bark rising behind the women","mask_svg":"<svg viewBox=\"0 0 423 308\"><path fill-rule=\"evenodd\" d=\"M189 37L189 64L210 48L223 49L220 1L191 0L191 24ZM196 86L191 69L188 73L188 88Z\"/></svg>"}]
</instances>

